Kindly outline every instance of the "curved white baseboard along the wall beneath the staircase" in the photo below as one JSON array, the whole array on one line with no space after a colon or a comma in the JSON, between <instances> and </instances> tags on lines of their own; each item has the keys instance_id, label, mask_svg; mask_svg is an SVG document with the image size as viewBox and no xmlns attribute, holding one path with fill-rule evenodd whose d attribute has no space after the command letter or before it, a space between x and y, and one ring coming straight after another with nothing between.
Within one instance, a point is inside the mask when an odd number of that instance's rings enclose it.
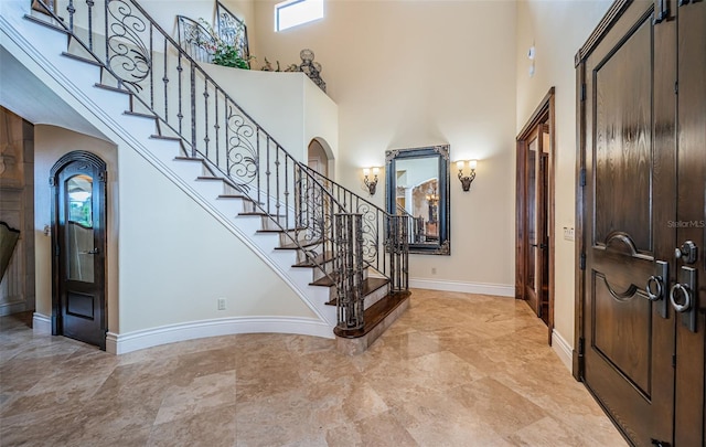
<instances>
[{"instance_id":1,"label":"curved white baseboard along the wall beneath the staircase","mask_svg":"<svg viewBox=\"0 0 706 447\"><path fill-rule=\"evenodd\" d=\"M125 354L160 344L237 333L296 333L333 339L333 328L321 320L292 317L234 317L162 326L127 333L108 332L106 352Z\"/></svg>"}]
</instances>

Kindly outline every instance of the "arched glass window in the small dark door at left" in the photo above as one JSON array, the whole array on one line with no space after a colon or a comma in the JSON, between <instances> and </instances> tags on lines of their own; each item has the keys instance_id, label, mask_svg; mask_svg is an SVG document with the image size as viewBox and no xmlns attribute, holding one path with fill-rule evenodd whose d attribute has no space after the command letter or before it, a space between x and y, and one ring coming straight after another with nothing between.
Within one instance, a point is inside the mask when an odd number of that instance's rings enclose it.
<instances>
[{"instance_id":1,"label":"arched glass window in the small dark door at left","mask_svg":"<svg viewBox=\"0 0 706 447\"><path fill-rule=\"evenodd\" d=\"M94 281L93 178L78 174L66 181L67 279Z\"/></svg>"}]
</instances>

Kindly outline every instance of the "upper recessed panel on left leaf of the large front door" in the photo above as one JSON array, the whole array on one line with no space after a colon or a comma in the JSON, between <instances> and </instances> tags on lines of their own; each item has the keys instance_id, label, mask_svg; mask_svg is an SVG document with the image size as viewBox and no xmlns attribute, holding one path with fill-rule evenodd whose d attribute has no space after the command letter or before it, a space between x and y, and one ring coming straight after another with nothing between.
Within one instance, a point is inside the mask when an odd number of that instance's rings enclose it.
<instances>
[{"instance_id":1,"label":"upper recessed panel on left leaf of the large front door","mask_svg":"<svg viewBox=\"0 0 706 447\"><path fill-rule=\"evenodd\" d=\"M593 70L596 92L593 245L616 232L651 252L651 23ZM619 191L619 194L616 192ZM635 206L637 205L637 206ZM629 206L630 212L624 212Z\"/></svg>"}]
</instances>

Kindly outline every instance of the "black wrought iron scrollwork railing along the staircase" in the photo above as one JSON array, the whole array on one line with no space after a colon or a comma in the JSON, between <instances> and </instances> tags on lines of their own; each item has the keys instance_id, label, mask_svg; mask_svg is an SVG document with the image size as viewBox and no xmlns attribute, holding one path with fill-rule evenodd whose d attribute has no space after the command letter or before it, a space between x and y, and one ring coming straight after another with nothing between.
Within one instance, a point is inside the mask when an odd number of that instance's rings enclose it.
<instances>
[{"instance_id":1,"label":"black wrought iron scrollwork railing along the staircase","mask_svg":"<svg viewBox=\"0 0 706 447\"><path fill-rule=\"evenodd\" d=\"M247 195L292 248L336 284L339 305L350 294L342 287L347 272L334 273L330 265L350 253L389 278L393 289L407 288L406 240L389 241L404 233L397 217L297 161L136 1L57 3L45 12L73 38L69 43L103 65L101 82L129 92L133 111L156 116L162 136L178 138L184 155L202 159L214 175ZM60 18L63 11L67 18ZM356 228L363 243L350 242L343 251L335 241L334 215L355 213L362 214ZM362 321L363 315L352 318Z\"/></svg>"}]
</instances>

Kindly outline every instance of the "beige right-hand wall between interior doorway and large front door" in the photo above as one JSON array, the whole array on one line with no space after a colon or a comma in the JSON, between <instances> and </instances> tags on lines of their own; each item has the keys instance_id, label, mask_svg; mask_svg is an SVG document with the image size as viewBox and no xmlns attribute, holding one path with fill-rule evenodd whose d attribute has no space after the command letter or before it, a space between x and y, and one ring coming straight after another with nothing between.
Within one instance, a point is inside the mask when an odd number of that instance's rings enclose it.
<instances>
[{"instance_id":1,"label":"beige right-hand wall between interior doorway and large front door","mask_svg":"<svg viewBox=\"0 0 706 447\"><path fill-rule=\"evenodd\" d=\"M563 227L574 227L576 212L576 72L574 55L598 24L610 0L517 2L517 123L530 119L549 87L556 87L556 300L555 331L574 343L575 243ZM530 76L535 46L535 74Z\"/></svg>"}]
</instances>

